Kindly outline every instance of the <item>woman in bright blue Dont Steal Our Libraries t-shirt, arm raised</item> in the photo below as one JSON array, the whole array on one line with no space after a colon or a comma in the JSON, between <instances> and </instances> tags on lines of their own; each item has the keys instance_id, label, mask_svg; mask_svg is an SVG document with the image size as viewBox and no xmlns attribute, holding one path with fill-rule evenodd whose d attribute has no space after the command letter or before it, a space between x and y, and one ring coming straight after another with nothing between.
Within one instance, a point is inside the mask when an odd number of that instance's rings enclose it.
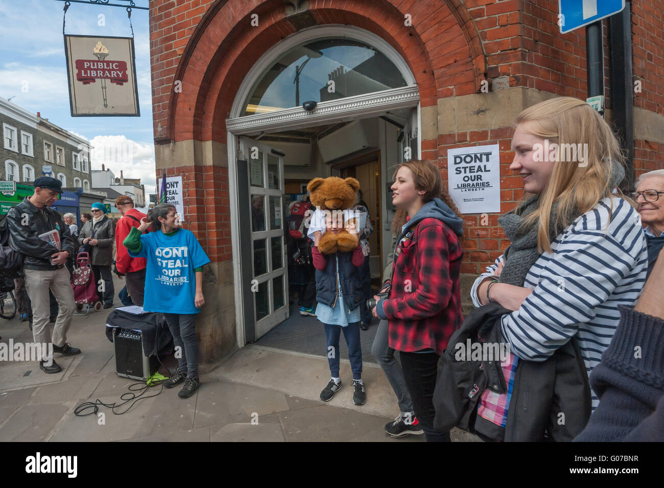
<instances>
[{"instance_id":1,"label":"woman in bright blue Dont Steal Our Libraries t-shirt, arm raised","mask_svg":"<svg viewBox=\"0 0 664 488\"><path fill-rule=\"evenodd\" d=\"M143 234L150 225L153 232ZM178 396L188 398L200 384L196 314L205 303L203 266L210 259L194 234L179 225L175 207L161 203L131 228L123 244L129 256L147 258L143 309L164 314L173 343L182 351L177 371L163 385L173 388L184 381Z\"/></svg>"}]
</instances>

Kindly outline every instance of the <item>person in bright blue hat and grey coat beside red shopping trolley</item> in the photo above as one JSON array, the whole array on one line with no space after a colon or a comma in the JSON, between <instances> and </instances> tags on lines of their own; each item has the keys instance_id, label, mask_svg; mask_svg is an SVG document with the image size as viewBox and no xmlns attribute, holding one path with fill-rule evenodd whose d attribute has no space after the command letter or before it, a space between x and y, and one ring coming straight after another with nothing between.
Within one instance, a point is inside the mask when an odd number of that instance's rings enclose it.
<instances>
[{"instance_id":1,"label":"person in bright blue hat and grey coat beside red shopping trolley","mask_svg":"<svg viewBox=\"0 0 664 488\"><path fill-rule=\"evenodd\" d=\"M92 204L92 220L88 220L78 235L81 251L89 247L92 272L97 284L97 295L104 302L104 308L113 306L115 288L111 265L113 264L113 243L115 242L116 225L106 216L106 206L96 202ZM87 246L86 246L87 244ZM100 280L103 285L100 290Z\"/></svg>"}]
</instances>

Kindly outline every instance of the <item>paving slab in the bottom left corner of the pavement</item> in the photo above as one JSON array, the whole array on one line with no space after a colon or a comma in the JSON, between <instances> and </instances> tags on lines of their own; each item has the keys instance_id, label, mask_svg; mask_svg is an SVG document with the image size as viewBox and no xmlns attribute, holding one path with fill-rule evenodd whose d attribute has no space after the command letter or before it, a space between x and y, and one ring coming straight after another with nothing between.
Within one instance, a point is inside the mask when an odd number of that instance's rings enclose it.
<instances>
[{"instance_id":1,"label":"paving slab in the bottom left corner of the pavement","mask_svg":"<svg viewBox=\"0 0 664 488\"><path fill-rule=\"evenodd\" d=\"M41 442L67 410L60 403L22 406L0 427L0 442Z\"/></svg>"}]
</instances>

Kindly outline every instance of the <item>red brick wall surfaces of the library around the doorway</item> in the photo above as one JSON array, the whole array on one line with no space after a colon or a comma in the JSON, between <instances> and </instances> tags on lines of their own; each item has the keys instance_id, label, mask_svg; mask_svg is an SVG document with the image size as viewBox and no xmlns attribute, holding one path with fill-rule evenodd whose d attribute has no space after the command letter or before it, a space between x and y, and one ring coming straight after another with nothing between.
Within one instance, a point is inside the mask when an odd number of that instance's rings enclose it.
<instances>
[{"instance_id":1,"label":"red brick wall surfaces of the library around the doorway","mask_svg":"<svg viewBox=\"0 0 664 488\"><path fill-rule=\"evenodd\" d=\"M664 22L655 0L633 2L633 60L641 92L634 104L664 114ZM250 26L250 16L259 26ZM412 26L404 25L404 15ZM557 0L309 0L309 15L319 25L341 23L367 29L390 42L402 54L420 88L422 107L439 99L480 92L482 82L500 76L510 87L527 87L560 96L586 98L584 29L560 35ZM155 142L226 142L224 120L234 94L250 67L265 50L296 31L282 0L150 2L150 42ZM605 74L610 72L608 23L605 22ZM175 92L174 82L181 82ZM606 80L611 108L610 78ZM501 145L501 212L511 210L522 196L523 183L509 171L511 128L444 133L422 141L422 157L438 159L446 178L450 147ZM442 134L441 134L442 133ZM663 167L662 143L635 141L637 175ZM189 164L190 161L185 161ZM195 211L191 228L207 242L213 261L230 260L228 171L221 167L188 165L169 168L182 174L185 204ZM205 191L221 195L214 217ZM491 262L507 240L490 215L465 216L467 222L463 272L476 274Z\"/></svg>"}]
</instances>

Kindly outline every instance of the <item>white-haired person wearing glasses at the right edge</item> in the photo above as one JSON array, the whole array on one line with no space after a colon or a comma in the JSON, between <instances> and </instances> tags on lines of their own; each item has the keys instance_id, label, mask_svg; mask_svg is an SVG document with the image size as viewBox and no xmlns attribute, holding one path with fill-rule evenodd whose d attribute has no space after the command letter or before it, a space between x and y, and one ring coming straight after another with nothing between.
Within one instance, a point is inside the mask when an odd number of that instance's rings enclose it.
<instances>
[{"instance_id":1,"label":"white-haired person wearing glasses at the right edge","mask_svg":"<svg viewBox=\"0 0 664 488\"><path fill-rule=\"evenodd\" d=\"M641 222L648 243L648 274L653 270L659 251L664 247L664 169L643 173L632 194L639 204Z\"/></svg>"}]
</instances>

